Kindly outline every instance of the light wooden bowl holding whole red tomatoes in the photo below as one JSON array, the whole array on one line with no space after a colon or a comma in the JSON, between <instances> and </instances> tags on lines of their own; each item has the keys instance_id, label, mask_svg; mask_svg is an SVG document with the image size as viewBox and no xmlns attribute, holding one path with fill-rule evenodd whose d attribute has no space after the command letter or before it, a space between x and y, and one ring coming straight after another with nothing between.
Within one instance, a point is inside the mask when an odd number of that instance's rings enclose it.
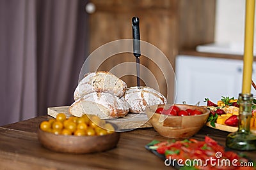
<instances>
[{"instance_id":1,"label":"light wooden bowl holding whole red tomatoes","mask_svg":"<svg viewBox=\"0 0 256 170\"><path fill-rule=\"evenodd\" d=\"M170 108L172 104L161 104L148 106L146 108L147 117L149 122L152 124L154 129L168 138L189 138L196 134L207 121L210 111L207 108L201 106L192 106L188 104L174 104L180 110L199 110L202 111L202 115L193 115L193 116L172 116L172 115L163 115L155 113L157 108Z\"/></svg>"}]
</instances>

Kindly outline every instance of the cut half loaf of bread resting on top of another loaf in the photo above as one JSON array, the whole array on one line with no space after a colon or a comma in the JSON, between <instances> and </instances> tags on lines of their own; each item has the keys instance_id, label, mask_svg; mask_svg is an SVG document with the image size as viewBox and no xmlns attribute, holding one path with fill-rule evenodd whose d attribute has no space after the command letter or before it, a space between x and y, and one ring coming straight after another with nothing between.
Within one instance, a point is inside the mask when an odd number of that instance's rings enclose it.
<instances>
[{"instance_id":1,"label":"cut half loaf of bread resting on top of another loaf","mask_svg":"<svg viewBox=\"0 0 256 170\"><path fill-rule=\"evenodd\" d=\"M108 71L97 71L84 75L74 92L75 101L92 92L109 92L117 97L124 95L127 85Z\"/></svg>"}]
</instances>

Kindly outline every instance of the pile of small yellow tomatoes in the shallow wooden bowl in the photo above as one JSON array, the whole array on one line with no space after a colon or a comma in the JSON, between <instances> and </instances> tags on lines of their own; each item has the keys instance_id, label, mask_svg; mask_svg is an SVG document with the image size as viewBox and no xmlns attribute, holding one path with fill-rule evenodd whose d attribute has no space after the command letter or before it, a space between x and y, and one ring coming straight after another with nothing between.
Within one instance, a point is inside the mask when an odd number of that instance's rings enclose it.
<instances>
[{"instance_id":1,"label":"pile of small yellow tomatoes in the shallow wooden bowl","mask_svg":"<svg viewBox=\"0 0 256 170\"><path fill-rule=\"evenodd\" d=\"M41 122L40 129L54 134L74 136L102 136L115 131L113 125L95 115L67 118L64 113L58 113L56 118Z\"/></svg>"}]
</instances>

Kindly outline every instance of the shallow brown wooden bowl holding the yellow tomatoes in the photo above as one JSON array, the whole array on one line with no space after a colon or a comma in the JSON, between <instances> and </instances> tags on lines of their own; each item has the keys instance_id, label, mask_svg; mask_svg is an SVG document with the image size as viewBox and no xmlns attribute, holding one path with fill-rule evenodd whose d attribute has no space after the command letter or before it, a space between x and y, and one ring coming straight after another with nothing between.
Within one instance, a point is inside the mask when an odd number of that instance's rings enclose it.
<instances>
[{"instance_id":1,"label":"shallow brown wooden bowl holding the yellow tomatoes","mask_svg":"<svg viewBox=\"0 0 256 170\"><path fill-rule=\"evenodd\" d=\"M38 128L38 140L49 150L63 153L93 153L115 148L119 132L104 136L72 136L44 132Z\"/></svg>"}]
</instances>

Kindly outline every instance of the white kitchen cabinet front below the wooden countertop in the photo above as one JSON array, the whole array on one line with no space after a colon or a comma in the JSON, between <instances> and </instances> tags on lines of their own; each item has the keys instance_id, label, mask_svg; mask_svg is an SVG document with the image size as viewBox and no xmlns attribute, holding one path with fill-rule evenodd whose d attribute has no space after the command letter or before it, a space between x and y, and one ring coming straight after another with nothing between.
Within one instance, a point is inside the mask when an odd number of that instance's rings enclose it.
<instances>
[{"instance_id":1,"label":"white kitchen cabinet front below the wooden countertop","mask_svg":"<svg viewBox=\"0 0 256 170\"><path fill-rule=\"evenodd\" d=\"M256 63L253 62L253 70ZM175 103L205 105L205 98L217 102L221 96L235 97L242 91L243 60L178 55L175 61ZM253 81L256 73L253 71ZM256 91L252 87L252 94Z\"/></svg>"}]
</instances>

